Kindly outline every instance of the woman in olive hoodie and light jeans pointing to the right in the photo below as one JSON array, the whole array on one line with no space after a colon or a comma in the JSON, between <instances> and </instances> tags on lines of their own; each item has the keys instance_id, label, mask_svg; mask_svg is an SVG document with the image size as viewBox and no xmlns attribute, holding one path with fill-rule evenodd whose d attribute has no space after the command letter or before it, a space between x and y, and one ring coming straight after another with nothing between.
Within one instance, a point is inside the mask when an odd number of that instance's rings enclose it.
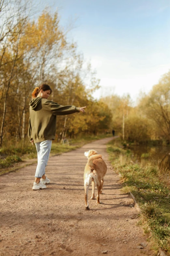
<instances>
[{"instance_id":1,"label":"woman in olive hoodie and light jeans pointing to the right","mask_svg":"<svg viewBox=\"0 0 170 256\"><path fill-rule=\"evenodd\" d=\"M36 145L38 164L35 172L35 182L33 190L44 189L50 179L45 175L45 168L50 156L52 140L55 139L56 133L56 116L68 115L75 112L83 112L84 108L76 108L68 105L62 106L48 100L52 90L49 85L42 84L36 87L32 93L30 101L30 118L28 137L33 145Z\"/></svg>"}]
</instances>

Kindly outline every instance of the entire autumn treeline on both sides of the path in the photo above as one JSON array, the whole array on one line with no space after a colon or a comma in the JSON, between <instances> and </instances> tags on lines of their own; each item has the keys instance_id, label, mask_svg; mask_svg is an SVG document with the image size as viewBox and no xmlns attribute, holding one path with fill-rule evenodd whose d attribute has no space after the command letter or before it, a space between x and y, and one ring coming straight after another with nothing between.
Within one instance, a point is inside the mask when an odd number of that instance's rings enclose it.
<instances>
[{"instance_id":1,"label":"entire autumn treeline on both sides of the path","mask_svg":"<svg viewBox=\"0 0 170 256\"><path fill-rule=\"evenodd\" d=\"M38 13L27 1L0 1L0 146L27 138L31 93L42 83L52 88L50 100L87 107L85 115L58 116L58 141L114 129L128 142L170 142L170 72L136 106L129 95L96 100L100 81L68 40L71 26L60 26L57 11Z\"/></svg>"}]
</instances>

